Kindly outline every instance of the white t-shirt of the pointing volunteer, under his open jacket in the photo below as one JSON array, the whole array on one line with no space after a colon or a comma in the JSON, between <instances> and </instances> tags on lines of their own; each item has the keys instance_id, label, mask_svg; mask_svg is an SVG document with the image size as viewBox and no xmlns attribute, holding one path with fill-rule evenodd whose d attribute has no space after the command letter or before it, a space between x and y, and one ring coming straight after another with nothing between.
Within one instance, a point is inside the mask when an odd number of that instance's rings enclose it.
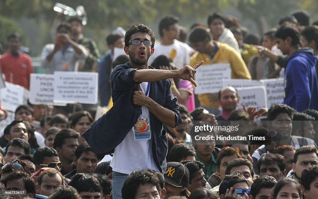
<instances>
[{"instance_id":1,"label":"white t-shirt of the pointing volunteer, under his open jacket","mask_svg":"<svg viewBox=\"0 0 318 199\"><path fill-rule=\"evenodd\" d=\"M146 93L148 82L143 82L140 85L142 92ZM142 106L142 117L149 118L149 110L146 106ZM130 174L134 170L152 169L160 172L153 159L153 139L151 132L151 139L135 141L134 129L130 129L124 140L115 148L114 156L110 163L113 171Z\"/></svg>"}]
</instances>

